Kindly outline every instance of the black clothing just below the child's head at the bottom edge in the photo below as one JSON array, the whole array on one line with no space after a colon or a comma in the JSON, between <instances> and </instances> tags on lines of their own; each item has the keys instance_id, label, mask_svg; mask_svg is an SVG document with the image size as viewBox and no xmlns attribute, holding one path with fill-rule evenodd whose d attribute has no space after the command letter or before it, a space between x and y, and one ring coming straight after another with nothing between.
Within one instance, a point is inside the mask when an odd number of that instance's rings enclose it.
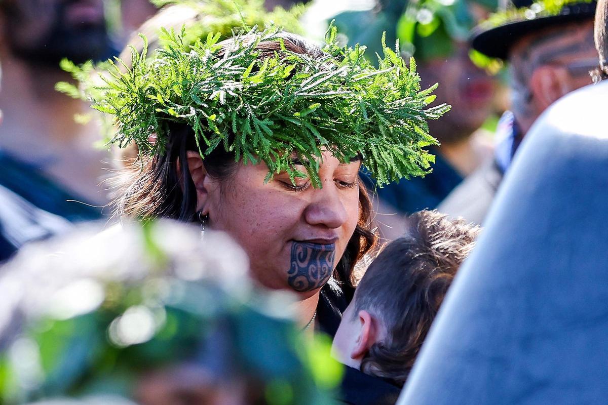
<instances>
[{"instance_id":1,"label":"black clothing just below the child's head at the bottom edge","mask_svg":"<svg viewBox=\"0 0 608 405\"><path fill-rule=\"evenodd\" d=\"M389 380L346 367L342 380L342 403L351 405L395 405L401 388Z\"/></svg>"}]
</instances>

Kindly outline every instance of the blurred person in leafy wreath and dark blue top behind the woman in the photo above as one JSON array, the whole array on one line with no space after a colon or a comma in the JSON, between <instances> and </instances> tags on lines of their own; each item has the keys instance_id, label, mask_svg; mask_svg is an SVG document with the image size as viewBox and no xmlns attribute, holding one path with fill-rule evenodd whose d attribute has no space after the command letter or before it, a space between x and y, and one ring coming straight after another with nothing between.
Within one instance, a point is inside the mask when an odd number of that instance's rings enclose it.
<instances>
[{"instance_id":1,"label":"blurred person in leafy wreath and dark blue top behind the woman","mask_svg":"<svg viewBox=\"0 0 608 405\"><path fill-rule=\"evenodd\" d=\"M436 155L433 172L424 178L392 183L372 189L378 194L381 233L387 239L399 237L403 214L435 208L466 176L492 154L485 131L477 131L494 111L496 80L469 57L467 39L474 24L496 9L496 2L457 0L380 0L375 9L347 11L335 16L336 25L348 43L368 44L368 57L382 55L379 38L386 43L399 39L408 58L416 59L424 86L441 83L437 97L452 106L441 120L429 123L430 134L441 146L430 148Z\"/></svg>"}]
</instances>

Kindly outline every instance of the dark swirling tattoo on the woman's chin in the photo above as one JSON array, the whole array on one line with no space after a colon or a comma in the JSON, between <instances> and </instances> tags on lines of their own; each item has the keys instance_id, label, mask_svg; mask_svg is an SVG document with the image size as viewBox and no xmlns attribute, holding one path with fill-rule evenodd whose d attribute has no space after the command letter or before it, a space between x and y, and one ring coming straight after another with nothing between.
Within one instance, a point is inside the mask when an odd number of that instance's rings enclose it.
<instances>
[{"instance_id":1,"label":"dark swirling tattoo on the woman's chin","mask_svg":"<svg viewBox=\"0 0 608 405\"><path fill-rule=\"evenodd\" d=\"M336 245L293 242L287 282L295 291L313 291L330 279L336 260Z\"/></svg>"}]
</instances>

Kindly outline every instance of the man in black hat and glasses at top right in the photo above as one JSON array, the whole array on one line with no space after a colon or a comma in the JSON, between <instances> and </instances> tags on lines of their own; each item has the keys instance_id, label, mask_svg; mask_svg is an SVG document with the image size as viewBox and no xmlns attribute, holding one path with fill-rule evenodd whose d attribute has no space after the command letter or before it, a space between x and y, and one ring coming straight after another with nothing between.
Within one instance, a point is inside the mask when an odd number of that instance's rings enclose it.
<instances>
[{"instance_id":1,"label":"man in black hat and glasses at top right","mask_svg":"<svg viewBox=\"0 0 608 405\"><path fill-rule=\"evenodd\" d=\"M596 2L517 0L474 32L472 47L511 66L511 111L500 120L494 158L456 188L438 207L454 217L482 223L502 177L536 118L554 101L592 83Z\"/></svg>"}]
</instances>

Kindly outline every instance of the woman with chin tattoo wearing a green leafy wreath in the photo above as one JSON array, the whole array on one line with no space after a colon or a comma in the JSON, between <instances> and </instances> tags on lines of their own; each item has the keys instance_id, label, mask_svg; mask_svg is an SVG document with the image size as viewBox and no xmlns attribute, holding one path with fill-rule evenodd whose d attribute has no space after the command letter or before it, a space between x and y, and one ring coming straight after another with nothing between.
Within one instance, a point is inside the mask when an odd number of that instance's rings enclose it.
<instances>
[{"instance_id":1,"label":"woman with chin tattoo wearing a green leafy wreath","mask_svg":"<svg viewBox=\"0 0 608 405\"><path fill-rule=\"evenodd\" d=\"M276 29L219 44L184 34L93 96L118 125L112 141L142 156L119 213L225 231L260 284L299 295L303 328L333 335L376 243L362 162L380 184L424 174L426 120L447 107L427 107L432 89L395 52L376 69L335 29L323 49Z\"/></svg>"}]
</instances>

